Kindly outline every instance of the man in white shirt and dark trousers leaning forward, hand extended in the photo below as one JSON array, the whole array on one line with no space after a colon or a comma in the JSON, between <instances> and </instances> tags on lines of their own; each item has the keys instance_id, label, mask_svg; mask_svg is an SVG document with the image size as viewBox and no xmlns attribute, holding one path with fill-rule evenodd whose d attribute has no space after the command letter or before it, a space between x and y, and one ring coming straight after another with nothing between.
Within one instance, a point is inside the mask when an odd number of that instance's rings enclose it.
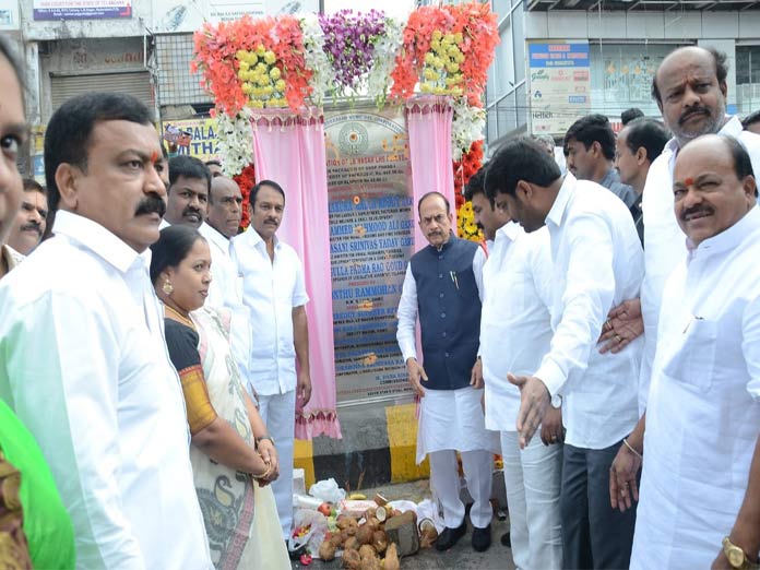
<instances>
[{"instance_id":1,"label":"man in white shirt and dark trousers leaning forward, hand extended","mask_svg":"<svg viewBox=\"0 0 760 570\"><path fill-rule=\"evenodd\" d=\"M614 304L639 294L641 244L625 203L571 174L527 139L506 143L489 163L486 191L526 231L547 226L553 260L549 352L520 387L520 447L562 395L567 427L560 508L563 568L626 568L634 511L610 509L609 466L638 419L641 339L617 354L596 341Z\"/></svg>"}]
</instances>

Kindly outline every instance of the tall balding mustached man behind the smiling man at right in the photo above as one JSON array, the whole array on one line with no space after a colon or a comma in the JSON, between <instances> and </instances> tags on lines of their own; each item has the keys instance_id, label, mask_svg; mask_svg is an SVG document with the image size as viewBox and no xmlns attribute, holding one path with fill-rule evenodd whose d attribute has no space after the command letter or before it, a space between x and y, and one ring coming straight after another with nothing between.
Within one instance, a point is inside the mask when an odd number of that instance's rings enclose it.
<instances>
[{"instance_id":1,"label":"tall balding mustached man behind the smiling man at right","mask_svg":"<svg viewBox=\"0 0 760 570\"><path fill-rule=\"evenodd\" d=\"M738 138L749 152L755 171L760 171L760 136L743 131L738 117L725 116L727 86L725 79L717 78L719 66L723 69L721 76L725 78L725 61L719 62L710 51L692 46L672 52L655 76L657 103L674 138L650 167L641 204L646 268L641 285L645 331L640 378L642 407L646 404L657 346L657 320L665 281L684 257L684 231L673 215L673 168L678 152L694 136L720 132ZM700 87L702 84L705 86Z\"/></svg>"}]
</instances>

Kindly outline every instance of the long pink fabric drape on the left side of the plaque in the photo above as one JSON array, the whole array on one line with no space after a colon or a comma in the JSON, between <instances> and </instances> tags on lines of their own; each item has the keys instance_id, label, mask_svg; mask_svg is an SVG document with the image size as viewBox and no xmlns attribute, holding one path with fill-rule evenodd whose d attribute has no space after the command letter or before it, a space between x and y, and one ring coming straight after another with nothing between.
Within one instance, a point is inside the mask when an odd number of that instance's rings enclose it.
<instances>
[{"instance_id":1,"label":"long pink fabric drape on the left side of the plaque","mask_svg":"<svg viewBox=\"0 0 760 570\"><path fill-rule=\"evenodd\" d=\"M296 411L296 437L341 438L335 412L330 225L323 117L306 111L257 110L253 157L257 180L274 180L285 190L285 214L277 237L304 262L309 302L311 401Z\"/></svg>"}]
</instances>

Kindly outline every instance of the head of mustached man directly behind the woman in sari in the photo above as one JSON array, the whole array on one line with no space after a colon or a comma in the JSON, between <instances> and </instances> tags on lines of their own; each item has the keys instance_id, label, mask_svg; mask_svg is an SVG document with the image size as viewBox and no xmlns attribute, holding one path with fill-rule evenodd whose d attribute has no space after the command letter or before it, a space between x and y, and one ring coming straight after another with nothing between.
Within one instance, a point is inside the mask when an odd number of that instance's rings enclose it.
<instances>
[{"instance_id":1,"label":"head of mustached man directly behind the woman in sari","mask_svg":"<svg viewBox=\"0 0 760 570\"><path fill-rule=\"evenodd\" d=\"M201 227L207 214L210 191L211 170L202 161L187 154L169 158L168 202L162 229L173 224Z\"/></svg>"}]
</instances>

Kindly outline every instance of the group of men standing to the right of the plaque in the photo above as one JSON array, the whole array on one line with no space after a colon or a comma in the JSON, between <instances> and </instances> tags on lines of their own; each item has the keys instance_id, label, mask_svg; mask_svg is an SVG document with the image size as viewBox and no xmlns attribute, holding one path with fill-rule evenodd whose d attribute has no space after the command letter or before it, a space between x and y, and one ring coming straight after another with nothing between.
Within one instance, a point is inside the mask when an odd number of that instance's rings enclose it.
<instances>
[{"instance_id":1,"label":"group of men standing to the right of the plaque","mask_svg":"<svg viewBox=\"0 0 760 570\"><path fill-rule=\"evenodd\" d=\"M496 432L518 568L760 568L760 136L726 95L725 56L680 48L662 120L579 119L567 174L550 141L508 141L466 188L482 247L419 201L397 337L439 548L466 529L452 449L490 544Z\"/></svg>"}]
</instances>

